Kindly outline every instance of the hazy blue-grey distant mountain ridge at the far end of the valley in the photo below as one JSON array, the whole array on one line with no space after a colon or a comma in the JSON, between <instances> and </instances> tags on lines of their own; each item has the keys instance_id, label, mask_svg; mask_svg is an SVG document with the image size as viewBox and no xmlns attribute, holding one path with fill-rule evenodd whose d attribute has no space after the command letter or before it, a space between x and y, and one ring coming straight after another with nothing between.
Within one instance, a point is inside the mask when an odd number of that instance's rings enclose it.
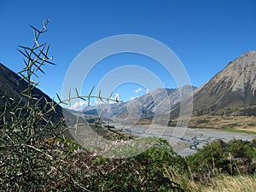
<instances>
[{"instance_id":1,"label":"hazy blue-grey distant mountain ridge at the far end of the valley","mask_svg":"<svg viewBox=\"0 0 256 192\"><path fill-rule=\"evenodd\" d=\"M196 88L185 85L179 89L158 89L128 102L101 104L84 108L84 114L99 115L102 119L124 120L151 119L155 116L169 116L172 106L191 94Z\"/></svg>"}]
</instances>

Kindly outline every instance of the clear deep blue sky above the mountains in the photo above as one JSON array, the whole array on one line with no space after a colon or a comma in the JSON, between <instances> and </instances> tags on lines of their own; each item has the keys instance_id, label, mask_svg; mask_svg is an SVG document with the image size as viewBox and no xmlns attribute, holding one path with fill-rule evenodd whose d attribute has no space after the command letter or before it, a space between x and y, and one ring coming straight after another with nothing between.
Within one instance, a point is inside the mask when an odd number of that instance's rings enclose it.
<instances>
[{"instance_id":1,"label":"clear deep blue sky above the mountains","mask_svg":"<svg viewBox=\"0 0 256 192\"><path fill-rule=\"evenodd\" d=\"M48 18L49 32L43 40L51 44L50 55L57 66L44 67L46 75L39 81L49 96L61 95L67 69L83 49L120 34L148 36L166 44L183 62L191 84L200 86L237 56L256 49L255 10L255 0L1 0L0 62L19 72L23 58L18 45L30 45L29 25L40 28ZM104 75L123 65L147 68L166 87L177 86L160 63L143 55L121 54L96 64L84 81L84 95ZM143 84L134 83L113 90L122 100L146 91Z\"/></svg>"}]
</instances>

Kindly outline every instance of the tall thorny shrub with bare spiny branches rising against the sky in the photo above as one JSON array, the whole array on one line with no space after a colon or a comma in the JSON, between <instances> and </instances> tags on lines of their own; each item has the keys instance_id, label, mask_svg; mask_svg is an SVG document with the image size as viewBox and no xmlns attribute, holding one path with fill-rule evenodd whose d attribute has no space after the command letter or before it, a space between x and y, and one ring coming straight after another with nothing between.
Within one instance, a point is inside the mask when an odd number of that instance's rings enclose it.
<instances>
[{"instance_id":1,"label":"tall thorny shrub with bare spiny branches rising against the sky","mask_svg":"<svg viewBox=\"0 0 256 192\"><path fill-rule=\"evenodd\" d=\"M47 32L49 20L38 30L32 27L34 42L32 47L20 46L19 52L24 55L25 67L20 71L20 81L26 81L27 87L22 90L22 96L9 96L6 93L1 98L4 101L3 113L0 114L0 185L4 191L38 191L44 190L47 183L69 177L69 181L86 189L75 182L72 176L65 172L63 162L67 151L60 143L64 138L67 126L60 111L59 104L71 102L73 99L88 99L97 97L110 101L102 96L79 96L67 98L59 102L40 96L35 89L38 86L38 73L44 73L44 65L55 65L49 56L49 44L40 44L39 38ZM118 101L116 101L118 102ZM58 119L56 120L56 116ZM99 126L99 125L98 125ZM109 127L109 131L112 131ZM53 142L52 142L53 141ZM58 172L61 170L61 172ZM58 174L61 175L58 175Z\"/></svg>"}]
</instances>

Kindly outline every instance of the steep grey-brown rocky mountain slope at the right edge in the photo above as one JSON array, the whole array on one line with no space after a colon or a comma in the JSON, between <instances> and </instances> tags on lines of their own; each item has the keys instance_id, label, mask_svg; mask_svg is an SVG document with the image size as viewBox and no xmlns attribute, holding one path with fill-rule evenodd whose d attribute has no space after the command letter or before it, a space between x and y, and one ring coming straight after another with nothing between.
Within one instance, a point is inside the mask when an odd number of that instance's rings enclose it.
<instances>
[{"instance_id":1,"label":"steep grey-brown rocky mountain slope at the right edge","mask_svg":"<svg viewBox=\"0 0 256 192\"><path fill-rule=\"evenodd\" d=\"M256 114L253 111L255 105L256 51L247 52L231 61L194 92L194 115Z\"/></svg>"}]
</instances>

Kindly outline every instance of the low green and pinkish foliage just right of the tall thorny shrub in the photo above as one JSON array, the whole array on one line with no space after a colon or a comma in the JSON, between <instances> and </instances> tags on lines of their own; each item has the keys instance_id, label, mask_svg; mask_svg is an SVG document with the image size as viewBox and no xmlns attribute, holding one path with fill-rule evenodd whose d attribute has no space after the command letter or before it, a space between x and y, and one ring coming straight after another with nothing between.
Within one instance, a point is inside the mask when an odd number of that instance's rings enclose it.
<instances>
[{"instance_id":1,"label":"low green and pinkish foliage just right of the tall thorny shrub","mask_svg":"<svg viewBox=\"0 0 256 192\"><path fill-rule=\"evenodd\" d=\"M187 172L186 162L164 140L127 159L108 159L90 152L69 155L69 174L75 175L90 191L183 191L173 182L170 170ZM62 186L63 187L63 186ZM73 189L75 190L75 189Z\"/></svg>"}]
</instances>

